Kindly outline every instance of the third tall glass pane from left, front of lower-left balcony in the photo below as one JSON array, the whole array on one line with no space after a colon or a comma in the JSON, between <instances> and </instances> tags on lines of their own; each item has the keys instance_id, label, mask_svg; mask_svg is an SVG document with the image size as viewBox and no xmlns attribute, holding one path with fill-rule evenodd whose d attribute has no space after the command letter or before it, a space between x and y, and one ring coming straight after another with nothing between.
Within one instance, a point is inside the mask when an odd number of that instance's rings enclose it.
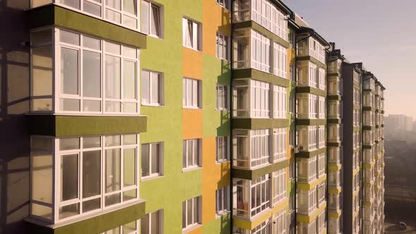
<instances>
[{"instance_id":1,"label":"third tall glass pane from left, front of lower-left balcony","mask_svg":"<svg viewBox=\"0 0 416 234\"><path fill-rule=\"evenodd\" d=\"M120 190L120 149L106 149L106 192ZM106 201L107 202L107 201Z\"/></svg>"}]
</instances>

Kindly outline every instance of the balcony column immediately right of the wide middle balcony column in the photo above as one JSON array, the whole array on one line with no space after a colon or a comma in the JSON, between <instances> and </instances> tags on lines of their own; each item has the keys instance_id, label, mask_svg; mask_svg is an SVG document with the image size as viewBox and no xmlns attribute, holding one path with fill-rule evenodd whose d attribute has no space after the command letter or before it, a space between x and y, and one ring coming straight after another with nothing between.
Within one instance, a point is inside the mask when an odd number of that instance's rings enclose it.
<instances>
[{"instance_id":1,"label":"balcony column immediately right of the wide middle balcony column","mask_svg":"<svg viewBox=\"0 0 416 234\"><path fill-rule=\"evenodd\" d=\"M315 37L298 40L296 87L299 152L296 154L298 233L326 232L326 51ZM333 128L340 143L340 128ZM334 152L336 154L336 152ZM334 174L339 184L340 175ZM333 197L336 203L339 197Z\"/></svg>"}]
</instances>

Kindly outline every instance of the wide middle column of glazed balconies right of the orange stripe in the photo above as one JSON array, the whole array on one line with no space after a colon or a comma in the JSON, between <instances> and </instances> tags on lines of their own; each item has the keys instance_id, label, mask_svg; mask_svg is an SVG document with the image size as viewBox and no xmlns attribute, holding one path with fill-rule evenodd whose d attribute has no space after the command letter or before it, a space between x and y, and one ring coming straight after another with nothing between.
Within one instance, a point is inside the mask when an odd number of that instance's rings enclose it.
<instances>
[{"instance_id":1,"label":"wide middle column of glazed balconies right of the orange stripe","mask_svg":"<svg viewBox=\"0 0 416 234\"><path fill-rule=\"evenodd\" d=\"M233 2L233 233L284 233L290 161L289 12L274 1L252 3Z\"/></svg>"}]
</instances>

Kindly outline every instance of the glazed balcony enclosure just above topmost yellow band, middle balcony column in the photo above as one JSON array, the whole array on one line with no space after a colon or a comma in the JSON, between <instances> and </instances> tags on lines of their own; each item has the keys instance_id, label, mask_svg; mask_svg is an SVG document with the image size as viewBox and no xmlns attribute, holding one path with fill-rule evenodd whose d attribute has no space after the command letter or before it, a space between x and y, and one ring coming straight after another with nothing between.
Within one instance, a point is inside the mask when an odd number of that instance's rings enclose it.
<instances>
[{"instance_id":1,"label":"glazed balcony enclosure just above topmost yellow band, middle balcony column","mask_svg":"<svg viewBox=\"0 0 416 234\"><path fill-rule=\"evenodd\" d=\"M233 216L252 218L270 207L269 174L255 180L233 179Z\"/></svg>"}]
</instances>

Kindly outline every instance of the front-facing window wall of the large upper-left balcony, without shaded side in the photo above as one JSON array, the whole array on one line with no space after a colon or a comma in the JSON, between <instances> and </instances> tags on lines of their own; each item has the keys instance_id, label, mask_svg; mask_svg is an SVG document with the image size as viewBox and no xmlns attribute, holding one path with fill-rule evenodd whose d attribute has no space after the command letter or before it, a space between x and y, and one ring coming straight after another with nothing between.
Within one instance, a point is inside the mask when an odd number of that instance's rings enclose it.
<instances>
[{"instance_id":1,"label":"front-facing window wall of the large upper-left balcony, without shaded side","mask_svg":"<svg viewBox=\"0 0 416 234\"><path fill-rule=\"evenodd\" d=\"M56 54L61 55L55 58L55 69L60 71L55 112L139 113L137 49L55 31L59 38Z\"/></svg>"}]
</instances>

